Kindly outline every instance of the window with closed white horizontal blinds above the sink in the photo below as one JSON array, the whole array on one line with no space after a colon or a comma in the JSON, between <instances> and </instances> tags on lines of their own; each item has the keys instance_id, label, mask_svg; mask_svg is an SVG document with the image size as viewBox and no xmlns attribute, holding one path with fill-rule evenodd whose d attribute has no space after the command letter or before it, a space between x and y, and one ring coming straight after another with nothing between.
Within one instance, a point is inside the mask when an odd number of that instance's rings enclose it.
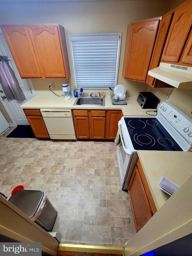
<instances>
[{"instance_id":1,"label":"window with closed white horizontal blinds above the sink","mask_svg":"<svg viewBox=\"0 0 192 256\"><path fill-rule=\"evenodd\" d=\"M69 34L77 88L109 88L117 84L121 33Z\"/></svg>"}]
</instances>

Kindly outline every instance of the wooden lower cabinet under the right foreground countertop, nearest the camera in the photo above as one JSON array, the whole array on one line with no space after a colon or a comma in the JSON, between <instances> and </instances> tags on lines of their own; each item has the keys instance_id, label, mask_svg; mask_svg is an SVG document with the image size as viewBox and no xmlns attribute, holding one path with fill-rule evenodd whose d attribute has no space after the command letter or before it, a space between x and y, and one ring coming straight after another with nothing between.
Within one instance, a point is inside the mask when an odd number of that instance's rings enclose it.
<instances>
[{"instance_id":1,"label":"wooden lower cabinet under the right foreground countertop, nearest the camera","mask_svg":"<svg viewBox=\"0 0 192 256\"><path fill-rule=\"evenodd\" d=\"M157 211L144 175L140 160L138 160L128 186L128 193L137 232Z\"/></svg>"}]
</instances>

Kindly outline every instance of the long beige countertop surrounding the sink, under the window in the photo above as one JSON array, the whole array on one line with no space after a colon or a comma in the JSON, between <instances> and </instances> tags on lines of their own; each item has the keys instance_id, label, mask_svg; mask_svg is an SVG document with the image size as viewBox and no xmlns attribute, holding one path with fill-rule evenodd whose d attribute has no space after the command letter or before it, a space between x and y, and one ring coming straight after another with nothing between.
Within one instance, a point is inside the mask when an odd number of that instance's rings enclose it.
<instances>
[{"instance_id":1,"label":"long beige countertop surrounding the sink, under the window","mask_svg":"<svg viewBox=\"0 0 192 256\"><path fill-rule=\"evenodd\" d=\"M56 91L58 93L58 91ZM58 93L59 94L59 93ZM73 94L73 92L72 92ZM61 94L59 94L61 95ZM36 96L21 106L23 109L106 109L122 110L124 116L146 116L146 111L151 109L142 109L137 103L138 92L130 92L127 105L113 105L110 96L105 97L105 106L73 106L76 98L74 95L70 100L65 101L64 97L58 97L52 92L37 92ZM152 112L155 114L154 112Z\"/></svg>"}]
</instances>

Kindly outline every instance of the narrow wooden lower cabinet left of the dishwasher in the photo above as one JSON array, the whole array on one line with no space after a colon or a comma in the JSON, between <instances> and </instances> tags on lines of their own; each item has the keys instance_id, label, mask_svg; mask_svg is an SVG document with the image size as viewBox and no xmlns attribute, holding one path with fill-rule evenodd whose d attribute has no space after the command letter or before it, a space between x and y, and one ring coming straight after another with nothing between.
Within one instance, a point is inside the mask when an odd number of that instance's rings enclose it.
<instances>
[{"instance_id":1,"label":"narrow wooden lower cabinet left of the dishwasher","mask_svg":"<svg viewBox=\"0 0 192 256\"><path fill-rule=\"evenodd\" d=\"M43 117L39 109L24 109L23 110L36 138L49 139L49 134L46 129Z\"/></svg>"}]
</instances>

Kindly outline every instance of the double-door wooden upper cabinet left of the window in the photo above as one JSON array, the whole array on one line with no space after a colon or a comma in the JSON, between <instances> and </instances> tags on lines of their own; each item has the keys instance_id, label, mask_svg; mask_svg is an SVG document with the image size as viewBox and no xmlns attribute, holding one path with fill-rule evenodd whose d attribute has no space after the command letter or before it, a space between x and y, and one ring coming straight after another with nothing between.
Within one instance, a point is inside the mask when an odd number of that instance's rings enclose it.
<instances>
[{"instance_id":1,"label":"double-door wooden upper cabinet left of the window","mask_svg":"<svg viewBox=\"0 0 192 256\"><path fill-rule=\"evenodd\" d=\"M2 25L1 29L21 78L70 77L62 26Z\"/></svg>"}]
</instances>

